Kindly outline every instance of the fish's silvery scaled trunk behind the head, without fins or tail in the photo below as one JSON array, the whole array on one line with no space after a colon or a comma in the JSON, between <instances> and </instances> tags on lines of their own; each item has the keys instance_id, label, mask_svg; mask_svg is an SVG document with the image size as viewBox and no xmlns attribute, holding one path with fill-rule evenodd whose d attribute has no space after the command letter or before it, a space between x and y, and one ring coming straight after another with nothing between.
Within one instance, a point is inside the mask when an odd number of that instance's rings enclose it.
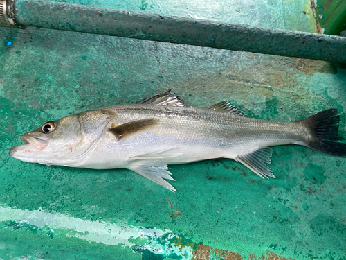
<instances>
[{"instance_id":1,"label":"fish's silvery scaled trunk behind the head, without fins or tail","mask_svg":"<svg viewBox=\"0 0 346 260\"><path fill-rule=\"evenodd\" d=\"M219 157L235 159L267 146L295 144L307 135L299 123L250 119L206 108L134 104L102 107L93 112L117 115L105 125L106 129L147 119L152 120L152 125L119 140L113 132L100 129L98 143L73 166L131 168L138 158L165 164Z\"/></svg>"}]
</instances>

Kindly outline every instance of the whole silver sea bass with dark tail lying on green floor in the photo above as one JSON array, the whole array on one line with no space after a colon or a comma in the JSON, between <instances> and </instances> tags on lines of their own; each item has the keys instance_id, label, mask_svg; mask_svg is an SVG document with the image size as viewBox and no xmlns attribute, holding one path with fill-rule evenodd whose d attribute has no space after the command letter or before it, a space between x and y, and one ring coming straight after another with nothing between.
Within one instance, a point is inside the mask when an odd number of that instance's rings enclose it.
<instances>
[{"instance_id":1,"label":"whole silver sea bass with dark tail lying on green floor","mask_svg":"<svg viewBox=\"0 0 346 260\"><path fill-rule=\"evenodd\" d=\"M176 191L168 164L230 158L261 177L275 177L269 146L298 144L346 157L339 115L329 109L292 122L251 119L227 101L185 107L170 90L129 105L113 105L48 121L21 135L10 156L48 166L128 168Z\"/></svg>"}]
</instances>

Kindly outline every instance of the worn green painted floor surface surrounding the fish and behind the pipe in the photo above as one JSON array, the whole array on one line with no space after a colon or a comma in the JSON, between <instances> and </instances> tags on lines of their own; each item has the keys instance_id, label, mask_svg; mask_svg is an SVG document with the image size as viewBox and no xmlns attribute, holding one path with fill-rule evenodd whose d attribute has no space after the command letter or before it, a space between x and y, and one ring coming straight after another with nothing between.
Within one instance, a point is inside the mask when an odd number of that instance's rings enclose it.
<instances>
[{"instance_id":1,"label":"worn green painted floor surface surrounding the fish and behind the pipe","mask_svg":"<svg viewBox=\"0 0 346 260\"><path fill-rule=\"evenodd\" d=\"M311 30L309 2L293 0L74 3ZM38 28L0 37L0 259L346 259L345 158L275 147L271 180L230 159L176 165L172 193L132 171L8 155L46 121L170 88L259 119L336 107L346 137L345 66Z\"/></svg>"}]
</instances>

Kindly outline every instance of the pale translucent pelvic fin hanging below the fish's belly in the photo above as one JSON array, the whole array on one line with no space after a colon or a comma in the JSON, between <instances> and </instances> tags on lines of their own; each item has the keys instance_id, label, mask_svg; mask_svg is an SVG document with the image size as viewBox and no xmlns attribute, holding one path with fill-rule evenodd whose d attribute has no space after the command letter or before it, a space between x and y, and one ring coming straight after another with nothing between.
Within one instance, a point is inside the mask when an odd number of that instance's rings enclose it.
<instances>
[{"instance_id":1,"label":"pale translucent pelvic fin hanging below the fish's belly","mask_svg":"<svg viewBox=\"0 0 346 260\"><path fill-rule=\"evenodd\" d=\"M142 175L143 177L146 177L147 179L152 180L153 182L156 182L157 184L169 189L170 191L176 191L176 189L174 189L171 184L163 180L174 180L171 177L172 173L167 171L168 166L166 164L156 164L155 166L137 164L130 169L138 173L139 175Z\"/></svg>"}]
</instances>

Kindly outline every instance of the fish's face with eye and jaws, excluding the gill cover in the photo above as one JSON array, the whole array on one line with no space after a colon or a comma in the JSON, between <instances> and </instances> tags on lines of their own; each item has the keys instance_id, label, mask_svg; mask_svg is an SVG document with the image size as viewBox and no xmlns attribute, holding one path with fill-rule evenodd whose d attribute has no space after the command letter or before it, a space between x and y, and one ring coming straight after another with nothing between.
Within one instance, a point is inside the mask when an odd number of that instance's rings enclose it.
<instances>
[{"instance_id":1,"label":"fish's face with eye and jaws, excluding the gill cover","mask_svg":"<svg viewBox=\"0 0 346 260\"><path fill-rule=\"evenodd\" d=\"M48 121L40 128L21 135L23 145L10 149L10 156L24 162L55 165L71 155L82 141L78 116Z\"/></svg>"}]
</instances>

